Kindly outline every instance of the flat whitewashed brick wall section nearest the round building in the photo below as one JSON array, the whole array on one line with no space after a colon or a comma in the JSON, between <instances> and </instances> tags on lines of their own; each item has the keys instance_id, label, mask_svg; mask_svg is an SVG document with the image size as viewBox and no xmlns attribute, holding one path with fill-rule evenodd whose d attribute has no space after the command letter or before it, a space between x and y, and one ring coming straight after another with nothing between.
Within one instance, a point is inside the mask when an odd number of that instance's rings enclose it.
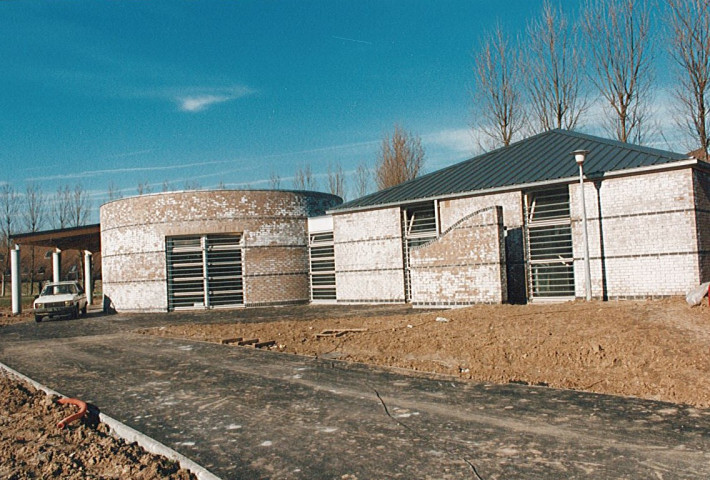
<instances>
[{"instance_id":1,"label":"flat whitewashed brick wall section nearest the round building","mask_svg":"<svg viewBox=\"0 0 710 480\"><path fill-rule=\"evenodd\" d=\"M333 215L337 301L404 302L400 209Z\"/></svg>"}]
</instances>

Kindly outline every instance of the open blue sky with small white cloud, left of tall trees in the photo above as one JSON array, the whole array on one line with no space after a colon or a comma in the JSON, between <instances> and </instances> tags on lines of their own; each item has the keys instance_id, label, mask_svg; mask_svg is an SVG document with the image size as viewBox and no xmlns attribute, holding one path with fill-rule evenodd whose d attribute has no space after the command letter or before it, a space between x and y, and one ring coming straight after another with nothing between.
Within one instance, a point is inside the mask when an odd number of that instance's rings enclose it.
<instances>
[{"instance_id":1,"label":"open blue sky with small white cloud, left of tall trees","mask_svg":"<svg viewBox=\"0 0 710 480\"><path fill-rule=\"evenodd\" d=\"M372 166L395 123L436 170L477 153L482 33L500 21L516 35L541 4L0 2L0 182L79 183L94 210L110 184L268 188L276 173L290 188L307 164Z\"/></svg>"}]
</instances>

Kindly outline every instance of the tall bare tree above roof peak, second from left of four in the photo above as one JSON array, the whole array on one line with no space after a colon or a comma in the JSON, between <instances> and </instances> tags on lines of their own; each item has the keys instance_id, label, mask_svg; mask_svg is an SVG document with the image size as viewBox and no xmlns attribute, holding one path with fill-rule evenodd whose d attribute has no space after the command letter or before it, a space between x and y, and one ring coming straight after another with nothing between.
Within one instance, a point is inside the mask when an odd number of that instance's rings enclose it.
<instances>
[{"instance_id":1,"label":"tall bare tree above roof peak, second from left of four","mask_svg":"<svg viewBox=\"0 0 710 480\"><path fill-rule=\"evenodd\" d=\"M542 17L528 24L527 50L521 58L534 131L574 130L587 109L575 44L562 8L546 0Z\"/></svg>"}]
</instances>

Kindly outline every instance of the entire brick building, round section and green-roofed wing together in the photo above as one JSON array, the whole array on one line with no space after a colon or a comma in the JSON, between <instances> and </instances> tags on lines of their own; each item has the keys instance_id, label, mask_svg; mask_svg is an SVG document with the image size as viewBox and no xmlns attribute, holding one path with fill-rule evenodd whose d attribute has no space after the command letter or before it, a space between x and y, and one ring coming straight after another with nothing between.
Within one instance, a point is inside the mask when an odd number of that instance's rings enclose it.
<instances>
[{"instance_id":1,"label":"entire brick building, round section and green-roofed wing together","mask_svg":"<svg viewBox=\"0 0 710 480\"><path fill-rule=\"evenodd\" d=\"M554 130L342 205L316 192L228 190L108 203L104 293L117 310L584 297L576 150L589 152L593 297L683 295L709 279L710 164ZM62 248L79 233L15 238Z\"/></svg>"}]
</instances>

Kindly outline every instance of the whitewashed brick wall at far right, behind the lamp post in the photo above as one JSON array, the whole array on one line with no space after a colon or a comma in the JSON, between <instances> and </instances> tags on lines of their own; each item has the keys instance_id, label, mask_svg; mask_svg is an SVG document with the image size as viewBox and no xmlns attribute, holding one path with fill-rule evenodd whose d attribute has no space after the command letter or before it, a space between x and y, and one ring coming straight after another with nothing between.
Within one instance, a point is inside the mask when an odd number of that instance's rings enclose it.
<instances>
[{"instance_id":1,"label":"whitewashed brick wall at far right, behind the lamp post","mask_svg":"<svg viewBox=\"0 0 710 480\"><path fill-rule=\"evenodd\" d=\"M585 182L594 297L684 295L699 283L693 178L683 169ZM580 187L569 188L575 290L583 297Z\"/></svg>"}]
</instances>

